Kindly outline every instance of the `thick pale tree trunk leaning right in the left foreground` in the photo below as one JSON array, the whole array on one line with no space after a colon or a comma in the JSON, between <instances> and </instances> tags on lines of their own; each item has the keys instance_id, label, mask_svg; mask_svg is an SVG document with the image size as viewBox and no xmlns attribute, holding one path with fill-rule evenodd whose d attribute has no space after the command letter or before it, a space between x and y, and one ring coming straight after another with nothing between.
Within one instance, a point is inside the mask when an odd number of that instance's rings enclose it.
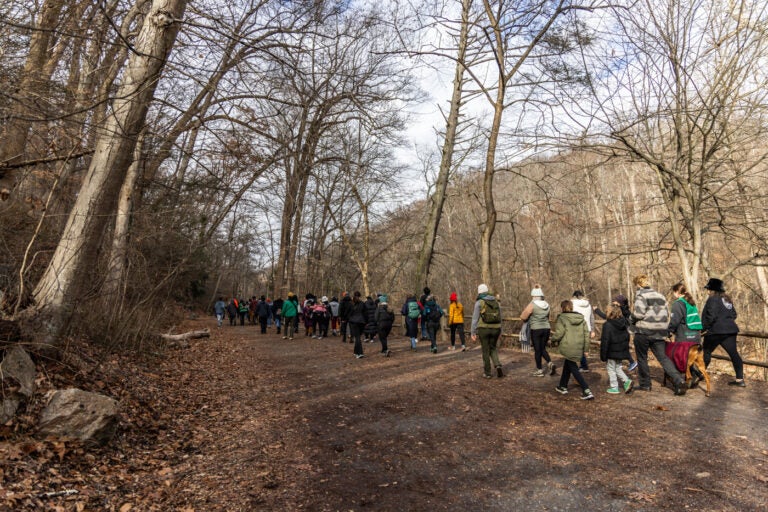
<instances>
[{"instance_id":1,"label":"thick pale tree trunk leaning right in the left foreground","mask_svg":"<svg viewBox=\"0 0 768 512\"><path fill-rule=\"evenodd\" d=\"M47 342L66 328L80 281L92 265L99 237L113 213L160 73L179 30L187 0L154 0L131 55L110 115L51 262L35 291L32 316L42 317ZM39 329L39 327L38 327ZM38 331L38 334L39 331Z\"/></svg>"}]
</instances>

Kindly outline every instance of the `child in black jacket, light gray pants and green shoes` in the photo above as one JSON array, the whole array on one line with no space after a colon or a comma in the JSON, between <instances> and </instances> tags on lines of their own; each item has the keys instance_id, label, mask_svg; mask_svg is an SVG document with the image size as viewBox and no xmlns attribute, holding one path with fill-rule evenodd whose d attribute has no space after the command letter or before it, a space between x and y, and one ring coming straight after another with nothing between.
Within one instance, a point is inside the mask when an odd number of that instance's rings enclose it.
<instances>
[{"instance_id":1,"label":"child in black jacket, light gray pants and green shoes","mask_svg":"<svg viewBox=\"0 0 768 512\"><path fill-rule=\"evenodd\" d=\"M619 380L622 382L624 393L632 392L632 379L627 377L621 368L621 362L629 357L629 322L622 314L618 304L608 306L605 325L600 335L600 360L605 362L610 387L607 392L612 395L621 393Z\"/></svg>"}]
</instances>

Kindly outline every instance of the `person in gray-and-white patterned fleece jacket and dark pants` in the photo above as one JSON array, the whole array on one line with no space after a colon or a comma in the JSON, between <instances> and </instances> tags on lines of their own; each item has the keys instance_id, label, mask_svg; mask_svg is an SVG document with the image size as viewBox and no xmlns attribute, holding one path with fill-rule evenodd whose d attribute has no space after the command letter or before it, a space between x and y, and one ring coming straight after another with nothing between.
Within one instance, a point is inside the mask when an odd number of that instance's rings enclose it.
<instances>
[{"instance_id":1,"label":"person in gray-and-white patterned fleece jacket and dark pants","mask_svg":"<svg viewBox=\"0 0 768 512\"><path fill-rule=\"evenodd\" d=\"M635 356L637 357L639 380L636 389L640 391L651 390L651 370L648 367L648 351L650 350L666 374L672 379L675 395L682 396L686 391L685 379L665 352L665 340L669 328L667 299L651 288L651 282L645 274L636 276L632 282L637 288L635 304L630 316L630 322L635 327Z\"/></svg>"}]
</instances>

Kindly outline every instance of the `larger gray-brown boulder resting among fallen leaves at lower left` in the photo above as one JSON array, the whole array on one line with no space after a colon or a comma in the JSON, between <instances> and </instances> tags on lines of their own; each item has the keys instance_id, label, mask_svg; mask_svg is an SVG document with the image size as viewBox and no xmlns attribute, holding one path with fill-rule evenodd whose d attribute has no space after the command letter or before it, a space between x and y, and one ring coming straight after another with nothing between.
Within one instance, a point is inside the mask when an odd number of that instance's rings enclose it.
<instances>
[{"instance_id":1,"label":"larger gray-brown boulder resting among fallen leaves at lower left","mask_svg":"<svg viewBox=\"0 0 768 512\"><path fill-rule=\"evenodd\" d=\"M105 444L117 428L118 403L98 393L71 388L53 393L40 416L39 437L73 437Z\"/></svg>"}]
</instances>

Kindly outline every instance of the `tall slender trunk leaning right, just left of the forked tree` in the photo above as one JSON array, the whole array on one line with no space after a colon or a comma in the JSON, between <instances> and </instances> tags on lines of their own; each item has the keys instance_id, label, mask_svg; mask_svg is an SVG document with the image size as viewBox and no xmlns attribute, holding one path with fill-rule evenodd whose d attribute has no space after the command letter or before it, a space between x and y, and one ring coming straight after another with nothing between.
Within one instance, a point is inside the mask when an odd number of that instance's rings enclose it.
<instances>
[{"instance_id":1,"label":"tall slender trunk leaning right, just left of the forked tree","mask_svg":"<svg viewBox=\"0 0 768 512\"><path fill-rule=\"evenodd\" d=\"M453 164L453 149L456 146L456 132L459 126L459 111L463 96L464 84L464 60L467 54L467 36L469 33L469 9L472 0L461 1L461 29L459 32L458 54L456 57L456 71L453 77L453 92L451 94L451 106L445 127L445 140L443 141L443 154L440 160L440 171L435 182L435 193L431 197L431 208L427 225L424 228L424 241L421 245L419 262L416 267L416 283L419 288L427 286L429 269L432 263L432 254L435 250L437 230L440 227L440 217L445 203L445 192L448 188L448 177Z\"/></svg>"}]
</instances>

